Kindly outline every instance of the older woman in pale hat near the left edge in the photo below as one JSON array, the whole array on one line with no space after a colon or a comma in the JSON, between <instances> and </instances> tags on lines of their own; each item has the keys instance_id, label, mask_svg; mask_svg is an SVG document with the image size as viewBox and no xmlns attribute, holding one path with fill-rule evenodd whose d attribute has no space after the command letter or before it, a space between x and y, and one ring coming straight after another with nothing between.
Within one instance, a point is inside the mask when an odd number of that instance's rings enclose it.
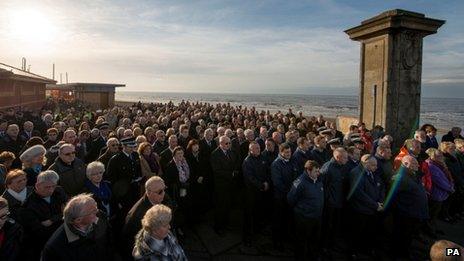
<instances>
[{"instance_id":1,"label":"older woman in pale hat near the left edge","mask_svg":"<svg viewBox=\"0 0 464 261\"><path fill-rule=\"evenodd\" d=\"M23 170L27 175L27 185L33 186L37 181L37 176L44 168L46 163L45 154L47 150L42 145L35 145L25 150L19 159L23 163Z\"/></svg>"}]
</instances>

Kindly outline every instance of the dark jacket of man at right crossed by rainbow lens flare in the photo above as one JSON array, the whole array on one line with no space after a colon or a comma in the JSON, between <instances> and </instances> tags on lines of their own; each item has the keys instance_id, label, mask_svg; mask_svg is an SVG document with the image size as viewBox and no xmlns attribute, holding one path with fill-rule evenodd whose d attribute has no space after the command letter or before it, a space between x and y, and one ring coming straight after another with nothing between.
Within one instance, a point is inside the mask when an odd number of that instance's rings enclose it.
<instances>
[{"instance_id":1,"label":"dark jacket of man at right crossed by rainbow lens flare","mask_svg":"<svg viewBox=\"0 0 464 261\"><path fill-rule=\"evenodd\" d=\"M429 209L427 192L415 177L401 166L398 174L393 176L393 208L396 214L418 219L428 219Z\"/></svg>"}]
</instances>

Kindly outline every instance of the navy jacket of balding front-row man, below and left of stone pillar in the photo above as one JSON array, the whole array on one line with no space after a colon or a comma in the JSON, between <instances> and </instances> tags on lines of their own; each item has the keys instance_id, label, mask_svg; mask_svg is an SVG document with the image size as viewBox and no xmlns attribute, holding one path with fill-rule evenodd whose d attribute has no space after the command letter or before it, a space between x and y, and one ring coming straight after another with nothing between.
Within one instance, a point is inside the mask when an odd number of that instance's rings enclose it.
<instances>
[{"instance_id":1,"label":"navy jacket of balding front-row man, below and left of stone pillar","mask_svg":"<svg viewBox=\"0 0 464 261\"><path fill-rule=\"evenodd\" d=\"M382 203L385 198L381 177L374 172L369 176L362 165L353 169L350 177L348 201L351 208L362 214L374 215L377 212L378 202Z\"/></svg>"}]
</instances>

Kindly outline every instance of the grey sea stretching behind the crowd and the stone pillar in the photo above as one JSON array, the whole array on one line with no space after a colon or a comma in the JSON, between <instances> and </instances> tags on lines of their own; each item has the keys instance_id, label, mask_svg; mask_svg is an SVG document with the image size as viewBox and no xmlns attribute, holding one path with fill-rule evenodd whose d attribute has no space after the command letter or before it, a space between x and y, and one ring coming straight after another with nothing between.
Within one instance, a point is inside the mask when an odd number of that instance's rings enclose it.
<instances>
[{"instance_id":1,"label":"grey sea stretching behind the crowd and the stone pillar","mask_svg":"<svg viewBox=\"0 0 464 261\"><path fill-rule=\"evenodd\" d=\"M175 104L185 101L230 103L233 106L255 107L272 113L303 111L305 115L335 118L358 116L358 96L305 95L305 94L233 94L233 93L179 93L179 92L116 92L117 101L162 102ZM422 97L419 125L433 124L441 133L464 123L464 98Z\"/></svg>"}]
</instances>

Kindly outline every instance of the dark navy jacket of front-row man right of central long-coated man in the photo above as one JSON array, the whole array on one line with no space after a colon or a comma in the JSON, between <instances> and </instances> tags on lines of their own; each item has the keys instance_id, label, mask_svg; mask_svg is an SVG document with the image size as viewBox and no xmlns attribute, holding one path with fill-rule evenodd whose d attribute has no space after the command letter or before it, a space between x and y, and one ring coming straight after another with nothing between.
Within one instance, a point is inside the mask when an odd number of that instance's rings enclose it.
<instances>
[{"instance_id":1,"label":"dark navy jacket of front-row man right of central long-coated man","mask_svg":"<svg viewBox=\"0 0 464 261\"><path fill-rule=\"evenodd\" d=\"M258 157L248 155L243 161L242 166L243 179L247 187L263 190L264 182L270 184L270 177L267 174L267 163L261 155Z\"/></svg>"}]
</instances>

